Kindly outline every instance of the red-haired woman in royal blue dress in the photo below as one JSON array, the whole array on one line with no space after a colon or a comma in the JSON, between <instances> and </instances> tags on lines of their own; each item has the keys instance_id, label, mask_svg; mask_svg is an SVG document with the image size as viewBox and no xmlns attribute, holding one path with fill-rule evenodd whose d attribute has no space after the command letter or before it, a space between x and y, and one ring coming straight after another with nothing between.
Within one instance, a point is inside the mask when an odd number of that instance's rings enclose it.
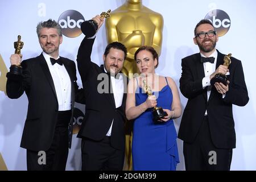
<instances>
[{"instance_id":1,"label":"red-haired woman in royal blue dress","mask_svg":"<svg viewBox=\"0 0 256 182\"><path fill-rule=\"evenodd\" d=\"M172 78L156 75L158 54L154 48L140 47L134 58L141 74L129 81L126 100L126 117L135 120L133 170L176 170L179 154L173 119L181 115L177 86ZM151 90L152 96L148 96L145 88ZM167 113L157 122L153 121L154 106Z\"/></svg>"}]
</instances>

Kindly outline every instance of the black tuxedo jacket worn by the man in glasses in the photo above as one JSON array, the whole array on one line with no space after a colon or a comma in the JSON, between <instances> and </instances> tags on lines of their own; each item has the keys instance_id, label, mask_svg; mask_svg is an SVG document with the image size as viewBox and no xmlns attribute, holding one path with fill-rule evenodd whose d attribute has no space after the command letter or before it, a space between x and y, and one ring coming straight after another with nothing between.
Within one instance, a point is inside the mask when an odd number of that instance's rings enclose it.
<instances>
[{"instance_id":1,"label":"black tuxedo jacket worn by the man in glasses","mask_svg":"<svg viewBox=\"0 0 256 182\"><path fill-rule=\"evenodd\" d=\"M216 69L224 64L224 56L218 52ZM188 98L188 102L181 119L178 137L185 142L193 143L207 110L213 144L217 148L235 148L236 133L232 105L245 106L249 101L241 61L230 57L229 75L226 75L230 84L226 96L222 98L222 94L212 86L207 101L207 88L203 89L202 85L205 77L204 65L200 59L200 53L196 53L181 60L180 91Z\"/></svg>"}]
</instances>

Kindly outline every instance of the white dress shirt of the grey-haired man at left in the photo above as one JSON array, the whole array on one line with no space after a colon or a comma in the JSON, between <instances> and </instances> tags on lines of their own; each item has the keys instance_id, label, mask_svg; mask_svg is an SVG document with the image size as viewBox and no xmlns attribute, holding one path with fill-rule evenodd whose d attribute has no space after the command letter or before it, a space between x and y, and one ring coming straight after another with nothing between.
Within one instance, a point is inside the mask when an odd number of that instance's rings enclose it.
<instances>
[{"instance_id":1,"label":"white dress shirt of the grey-haired man at left","mask_svg":"<svg viewBox=\"0 0 256 182\"><path fill-rule=\"evenodd\" d=\"M43 52L44 59L51 73L55 91L57 94L57 101L59 104L59 111L71 110L71 80L65 69L64 64L59 65L55 63L52 65L50 56ZM59 59L60 56L57 57Z\"/></svg>"}]
</instances>

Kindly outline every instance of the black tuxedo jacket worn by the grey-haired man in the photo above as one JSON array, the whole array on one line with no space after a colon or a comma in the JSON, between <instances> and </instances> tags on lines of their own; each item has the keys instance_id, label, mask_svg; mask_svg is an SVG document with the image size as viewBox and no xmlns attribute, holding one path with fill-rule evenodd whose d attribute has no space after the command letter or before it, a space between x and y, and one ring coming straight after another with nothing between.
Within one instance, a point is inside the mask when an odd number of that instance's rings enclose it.
<instances>
[{"instance_id":1,"label":"black tuxedo jacket worn by the grey-haired man","mask_svg":"<svg viewBox=\"0 0 256 182\"><path fill-rule=\"evenodd\" d=\"M82 102L84 98L78 92L75 62L64 57L61 57L61 59L71 80L73 115L75 97L79 102ZM43 54L22 61L21 66L23 78L17 80L9 77L10 73L7 73L6 84L6 92L9 98L19 98L24 92L26 92L28 98L27 118L20 147L33 151L46 151L52 144L59 109L55 86ZM73 116L70 118L68 125L69 148L72 140L72 118Z\"/></svg>"}]
</instances>

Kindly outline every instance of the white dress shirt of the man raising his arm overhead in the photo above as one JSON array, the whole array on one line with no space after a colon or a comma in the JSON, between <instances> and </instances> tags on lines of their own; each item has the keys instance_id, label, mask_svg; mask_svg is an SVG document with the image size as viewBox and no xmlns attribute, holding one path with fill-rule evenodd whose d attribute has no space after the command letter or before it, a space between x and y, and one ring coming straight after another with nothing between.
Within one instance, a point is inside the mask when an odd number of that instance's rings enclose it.
<instances>
[{"instance_id":1,"label":"white dress shirt of the man raising his arm overhead","mask_svg":"<svg viewBox=\"0 0 256 182\"><path fill-rule=\"evenodd\" d=\"M107 72L105 68L104 70L105 72ZM117 108L122 105L122 101L123 101L123 92L124 92L123 75L121 74L119 79L115 79L114 76L110 76L110 79L111 79L112 90L114 94L115 108ZM113 121L114 119L112 120L108 133L106 134L106 136L108 137L110 137L112 133Z\"/></svg>"}]
</instances>

